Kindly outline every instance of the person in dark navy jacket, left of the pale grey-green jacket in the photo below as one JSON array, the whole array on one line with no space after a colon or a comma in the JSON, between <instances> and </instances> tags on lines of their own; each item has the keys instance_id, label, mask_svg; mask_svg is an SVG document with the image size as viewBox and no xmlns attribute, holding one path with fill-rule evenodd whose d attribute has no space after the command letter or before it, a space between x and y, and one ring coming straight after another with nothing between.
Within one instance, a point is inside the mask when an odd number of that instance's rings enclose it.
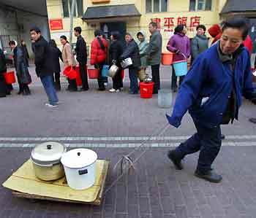
<instances>
[{"instance_id":1,"label":"person in dark navy jacket, left of the pale grey-green jacket","mask_svg":"<svg viewBox=\"0 0 256 218\"><path fill-rule=\"evenodd\" d=\"M121 60L132 58L132 65L129 66L130 94L138 94L138 69L141 65L140 50L138 44L132 39L131 34L125 34L125 41L127 42L127 48L120 58Z\"/></svg>"}]
</instances>

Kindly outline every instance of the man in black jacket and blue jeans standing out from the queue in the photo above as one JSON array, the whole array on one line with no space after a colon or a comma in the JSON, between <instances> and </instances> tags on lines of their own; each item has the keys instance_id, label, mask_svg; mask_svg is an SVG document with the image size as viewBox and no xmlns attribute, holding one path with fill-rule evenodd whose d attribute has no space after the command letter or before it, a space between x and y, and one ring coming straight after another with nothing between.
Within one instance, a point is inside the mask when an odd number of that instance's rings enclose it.
<instances>
[{"instance_id":1,"label":"man in black jacket and blue jeans standing out from the queue","mask_svg":"<svg viewBox=\"0 0 256 218\"><path fill-rule=\"evenodd\" d=\"M39 28L31 28L30 35L35 41L34 64L37 77L40 77L49 100L49 104L45 104L45 106L56 107L59 104L59 99L53 86L53 50L44 37L42 37Z\"/></svg>"}]
</instances>

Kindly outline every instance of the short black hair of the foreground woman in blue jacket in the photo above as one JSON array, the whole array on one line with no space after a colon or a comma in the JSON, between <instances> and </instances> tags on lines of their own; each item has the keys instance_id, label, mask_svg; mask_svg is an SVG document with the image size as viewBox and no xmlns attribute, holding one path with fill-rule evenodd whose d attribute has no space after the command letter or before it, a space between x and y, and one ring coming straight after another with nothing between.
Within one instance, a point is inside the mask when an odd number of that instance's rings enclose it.
<instances>
[{"instance_id":1,"label":"short black hair of the foreground woman in blue jacket","mask_svg":"<svg viewBox=\"0 0 256 218\"><path fill-rule=\"evenodd\" d=\"M227 28L238 28L242 31L243 40L249 32L249 20L245 17L233 17L230 20L222 22L222 32Z\"/></svg>"}]
</instances>

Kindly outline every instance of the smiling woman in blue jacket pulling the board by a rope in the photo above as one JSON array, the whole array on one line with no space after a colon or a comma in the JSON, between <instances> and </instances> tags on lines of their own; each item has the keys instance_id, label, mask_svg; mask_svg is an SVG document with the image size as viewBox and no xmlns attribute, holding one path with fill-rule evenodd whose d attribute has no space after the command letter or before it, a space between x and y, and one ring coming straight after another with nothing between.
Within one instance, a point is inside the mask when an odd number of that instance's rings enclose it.
<instances>
[{"instance_id":1,"label":"smiling woman in blue jacket pulling the board by a rope","mask_svg":"<svg viewBox=\"0 0 256 218\"><path fill-rule=\"evenodd\" d=\"M189 110L197 133L168 152L174 166L181 170L181 160L200 151L195 176L209 182L221 182L211 164L222 145L221 124L238 120L242 96L256 104L252 86L249 52L242 44L248 34L243 18L224 22L222 37L208 50L198 56L181 84L171 117L170 125L178 128Z\"/></svg>"}]
</instances>

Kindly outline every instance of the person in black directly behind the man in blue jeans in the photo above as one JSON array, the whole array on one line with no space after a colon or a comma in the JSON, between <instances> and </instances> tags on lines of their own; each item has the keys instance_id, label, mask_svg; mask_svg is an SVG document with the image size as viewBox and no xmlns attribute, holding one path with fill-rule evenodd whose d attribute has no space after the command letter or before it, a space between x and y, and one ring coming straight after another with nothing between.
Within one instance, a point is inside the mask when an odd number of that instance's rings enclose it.
<instances>
[{"instance_id":1,"label":"person in black directly behind the man in blue jeans","mask_svg":"<svg viewBox=\"0 0 256 218\"><path fill-rule=\"evenodd\" d=\"M61 50L59 50L59 48L57 47L54 39L50 39L49 45L50 48L53 50L53 74L55 76L55 81L53 76L53 85L55 86L56 90L61 90L61 66L59 64L59 59L61 59L62 61Z\"/></svg>"}]
</instances>

